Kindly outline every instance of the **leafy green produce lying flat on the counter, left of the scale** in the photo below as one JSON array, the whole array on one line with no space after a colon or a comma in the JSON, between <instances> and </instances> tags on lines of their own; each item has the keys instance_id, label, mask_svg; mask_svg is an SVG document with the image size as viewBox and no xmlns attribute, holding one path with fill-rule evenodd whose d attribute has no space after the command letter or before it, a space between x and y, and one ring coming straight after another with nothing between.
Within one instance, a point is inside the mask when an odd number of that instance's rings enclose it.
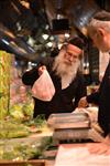
<instances>
[{"instance_id":1,"label":"leafy green produce lying flat on the counter, left of the scale","mask_svg":"<svg viewBox=\"0 0 110 166\"><path fill-rule=\"evenodd\" d=\"M33 128L35 128L34 137L32 137ZM14 118L0 121L0 160L26 160L42 157L52 142L51 136L42 135L44 131L47 132L44 116L24 123ZM40 133L41 136L37 136Z\"/></svg>"}]
</instances>

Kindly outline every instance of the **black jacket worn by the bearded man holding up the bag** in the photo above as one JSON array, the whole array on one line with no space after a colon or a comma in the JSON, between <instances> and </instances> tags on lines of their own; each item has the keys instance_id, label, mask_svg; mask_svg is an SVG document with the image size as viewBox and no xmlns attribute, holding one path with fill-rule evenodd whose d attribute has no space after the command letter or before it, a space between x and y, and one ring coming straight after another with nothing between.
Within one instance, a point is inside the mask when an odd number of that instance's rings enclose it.
<instances>
[{"instance_id":1,"label":"black jacket worn by the bearded man holding up the bag","mask_svg":"<svg viewBox=\"0 0 110 166\"><path fill-rule=\"evenodd\" d=\"M37 68L43 64L46 65L56 92L51 102L43 102L34 98L34 117L36 117L38 114L45 114L45 117L47 118L52 113L73 112L76 108L79 98L86 95L85 80L80 72L77 72L75 80L67 89L62 90L61 77L58 77L55 72L52 71L53 62L53 58L46 58L37 65ZM22 81L25 85L32 86L37 80L37 68L34 68L33 70L23 74ZM74 103L73 98L75 100Z\"/></svg>"}]
</instances>

